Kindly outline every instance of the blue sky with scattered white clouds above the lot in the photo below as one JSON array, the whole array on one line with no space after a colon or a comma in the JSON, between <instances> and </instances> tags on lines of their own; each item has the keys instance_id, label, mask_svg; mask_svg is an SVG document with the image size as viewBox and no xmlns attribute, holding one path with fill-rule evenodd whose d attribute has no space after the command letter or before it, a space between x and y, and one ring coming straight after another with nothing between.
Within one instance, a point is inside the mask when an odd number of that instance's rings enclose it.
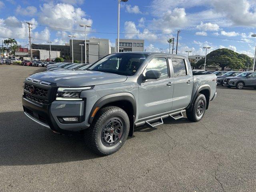
<instances>
[{"instance_id":1,"label":"blue sky with scattered white clouds above the lot","mask_svg":"<svg viewBox=\"0 0 256 192\"><path fill-rule=\"evenodd\" d=\"M0 39L65 44L68 35L84 39L80 23L91 24L86 38L117 38L117 0L0 0ZM255 0L129 0L120 3L120 38L144 39L150 52L168 52L168 38L177 37L178 54L204 55L229 48L254 56ZM176 48L176 45L175 45Z\"/></svg>"}]
</instances>

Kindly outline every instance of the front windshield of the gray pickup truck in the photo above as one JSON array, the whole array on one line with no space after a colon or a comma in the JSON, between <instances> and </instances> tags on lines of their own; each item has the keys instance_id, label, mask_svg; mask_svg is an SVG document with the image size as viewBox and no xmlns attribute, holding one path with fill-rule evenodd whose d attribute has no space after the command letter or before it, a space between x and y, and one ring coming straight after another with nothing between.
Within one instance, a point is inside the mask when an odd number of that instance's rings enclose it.
<instances>
[{"instance_id":1,"label":"front windshield of the gray pickup truck","mask_svg":"<svg viewBox=\"0 0 256 192\"><path fill-rule=\"evenodd\" d=\"M132 76L147 56L133 53L110 54L90 66L88 70Z\"/></svg>"}]
</instances>

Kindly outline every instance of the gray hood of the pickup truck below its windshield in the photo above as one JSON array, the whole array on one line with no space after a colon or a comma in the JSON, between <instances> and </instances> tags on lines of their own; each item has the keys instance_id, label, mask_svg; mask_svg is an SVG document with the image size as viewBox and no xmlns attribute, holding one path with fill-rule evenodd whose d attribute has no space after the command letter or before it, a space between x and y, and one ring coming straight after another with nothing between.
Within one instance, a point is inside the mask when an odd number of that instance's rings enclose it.
<instances>
[{"instance_id":1,"label":"gray hood of the pickup truck below its windshield","mask_svg":"<svg viewBox=\"0 0 256 192\"><path fill-rule=\"evenodd\" d=\"M127 76L90 70L60 70L37 73L30 76L30 78L56 83L58 87L84 87L124 82Z\"/></svg>"}]
</instances>

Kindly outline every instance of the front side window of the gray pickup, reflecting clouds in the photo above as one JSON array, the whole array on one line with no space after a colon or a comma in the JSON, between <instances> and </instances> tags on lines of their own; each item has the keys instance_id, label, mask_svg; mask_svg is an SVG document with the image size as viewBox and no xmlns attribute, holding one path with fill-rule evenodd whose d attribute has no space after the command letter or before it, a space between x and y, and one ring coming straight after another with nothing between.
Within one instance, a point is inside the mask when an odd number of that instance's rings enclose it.
<instances>
[{"instance_id":1,"label":"front side window of the gray pickup, reflecting clouds","mask_svg":"<svg viewBox=\"0 0 256 192\"><path fill-rule=\"evenodd\" d=\"M146 69L143 71L143 75L149 70L156 70L161 72L160 78L168 77L168 66L166 58L158 57L153 58L147 65Z\"/></svg>"}]
</instances>

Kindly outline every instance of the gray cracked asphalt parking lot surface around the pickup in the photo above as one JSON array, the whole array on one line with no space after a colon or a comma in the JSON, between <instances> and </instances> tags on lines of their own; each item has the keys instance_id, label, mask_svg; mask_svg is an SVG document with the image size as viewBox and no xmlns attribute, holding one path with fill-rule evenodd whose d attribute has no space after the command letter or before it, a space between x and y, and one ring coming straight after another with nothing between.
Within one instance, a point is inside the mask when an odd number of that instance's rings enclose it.
<instances>
[{"instance_id":1,"label":"gray cracked asphalt parking lot surface around the pickup","mask_svg":"<svg viewBox=\"0 0 256 192\"><path fill-rule=\"evenodd\" d=\"M99 157L80 134L54 134L23 114L23 81L43 70L0 66L0 192L256 191L256 90L218 87L200 122L136 128Z\"/></svg>"}]
</instances>

